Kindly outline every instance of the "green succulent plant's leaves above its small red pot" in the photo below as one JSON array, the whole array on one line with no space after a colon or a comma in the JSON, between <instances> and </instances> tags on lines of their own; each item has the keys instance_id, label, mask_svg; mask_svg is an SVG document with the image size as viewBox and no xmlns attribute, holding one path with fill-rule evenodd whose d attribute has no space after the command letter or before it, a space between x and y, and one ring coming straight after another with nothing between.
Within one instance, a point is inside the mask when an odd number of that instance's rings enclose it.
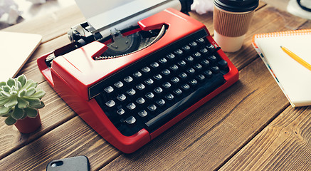
<instances>
[{"instance_id":1,"label":"green succulent plant's leaves above its small red pot","mask_svg":"<svg viewBox=\"0 0 311 171\"><path fill-rule=\"evenodd\" d=\"M0 116L6 117L6 125L13 125L17 120L36 118L38 108L43 108L41 98L46 92L37 88L38 83L27 80L21 75L0 82Z\"/></svg>"}]
</instances>

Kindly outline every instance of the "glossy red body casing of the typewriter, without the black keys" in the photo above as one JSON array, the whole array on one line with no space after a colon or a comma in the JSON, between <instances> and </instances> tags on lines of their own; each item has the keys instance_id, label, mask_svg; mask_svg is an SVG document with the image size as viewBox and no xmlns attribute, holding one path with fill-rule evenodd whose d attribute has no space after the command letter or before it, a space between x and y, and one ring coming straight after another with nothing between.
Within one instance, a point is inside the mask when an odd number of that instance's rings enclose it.
<instances>
[{"instance_id":1,"label":"glossy red body casing of the typewriter, without the black keys","mask_svg":"<svg viewBox=\"0 0 311 171\"><path fill-rule=\"evenodd\" d=\"M228 72L223 76L225 83L222 83L221 86L218 86L211 93L204 95L196 103L179 112L178 115L161 125L157 125L152 131L142 128L133 135L120 133L120 130L116 128L97 100L95 100L98 92L94 91L93 88L105 85L105 80L112 77L115 73L124 72L121 76L126 76L128 72L124 70L128 66L135 65L137 61L142 60L146 56L156 53L159 49L165 48L198 31L205 31L206 41L218 47L204 24L174 9L166 9L158 14L149 16L147 19L139 21L138 24L139 28L137 30L142 31L159 29L165 24L167 25L167 31L162 38L147 48L119 58L96 61L94 58L104 53L108 47L105 43L93 41L80 48L73 48L72 46L63 48L65 50L62 51L66 51L66 53L53 59L51 67L46 64L46 58L51 53L41 56L37 61L38 68L43 76L51 87L56 90L58 95L68 103L70 108L75 110L75 113L80 118L83 118L102 138L105 138L110 144L125 153L135 152L139 147L147 144L147 142L156 138L172 125L178 123L186 115L192 113L196 108L199 108L199 106L238 81L238 70L233 66L225 53L218 48L215 53L228 64ZM102 91L104 88L105 86L102 87ZM107 104L106 101L104 103Z\"/></svg>"}]
</instances>

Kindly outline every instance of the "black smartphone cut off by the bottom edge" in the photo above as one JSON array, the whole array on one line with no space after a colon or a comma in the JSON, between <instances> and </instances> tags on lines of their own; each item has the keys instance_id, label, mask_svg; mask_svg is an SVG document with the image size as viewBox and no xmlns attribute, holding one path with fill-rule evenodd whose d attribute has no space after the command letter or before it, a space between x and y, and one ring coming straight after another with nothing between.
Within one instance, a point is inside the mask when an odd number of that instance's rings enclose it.
<instances>
[{"instance_id":1,"label":"black smartphone cut off by the bottom edge","mask_svg":"<svg viewBox=\"0 0 311 171\"><path fill-rule=\"evenodd\" d=\"M46 171L89 171L88 157L76 156L60 160L53 160L46 166Z\"/></svg>"}]
</instances>

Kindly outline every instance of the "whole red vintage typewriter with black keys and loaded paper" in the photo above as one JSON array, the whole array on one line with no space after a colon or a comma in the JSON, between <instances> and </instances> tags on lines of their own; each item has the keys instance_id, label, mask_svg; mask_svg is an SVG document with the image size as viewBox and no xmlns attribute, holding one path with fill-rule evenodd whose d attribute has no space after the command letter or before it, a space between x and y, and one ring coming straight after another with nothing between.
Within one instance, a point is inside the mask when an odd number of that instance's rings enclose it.
<instances>
[{"instance_id":1,"label":"whole red vintage typewriter with black keys and loaded paper","mask_svg":"<svg viewBox=\"0 0 311 171\"><path fill-rule=\"evenodd\" d=\"M68 32L72 43L38 58L38 68L122 152L134 152L238 81L206 26L181 13L191 2L91 2L77 1L87 22Z\"/></svg>"}]
</instances>

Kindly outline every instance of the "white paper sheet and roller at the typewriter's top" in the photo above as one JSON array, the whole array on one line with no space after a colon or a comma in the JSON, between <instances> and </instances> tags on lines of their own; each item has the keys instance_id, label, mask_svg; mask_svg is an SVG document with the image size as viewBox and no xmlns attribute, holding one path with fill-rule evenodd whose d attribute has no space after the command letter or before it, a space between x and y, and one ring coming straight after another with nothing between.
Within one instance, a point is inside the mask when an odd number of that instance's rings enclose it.
<instances>
[{"instance_id":1,"label":"white paper sheet and roller at the typewriter's top","mask_svg":"<svg viewBox=\"0 0 311 171\"><path fill-rule=\"evenodd\" d=\"M75 0L75 2L88 24L96 31L100 31L102 37L135 26L138 21L169 7L179 11L181 9L179 0Z\"/></svg>"}]
</instances>

